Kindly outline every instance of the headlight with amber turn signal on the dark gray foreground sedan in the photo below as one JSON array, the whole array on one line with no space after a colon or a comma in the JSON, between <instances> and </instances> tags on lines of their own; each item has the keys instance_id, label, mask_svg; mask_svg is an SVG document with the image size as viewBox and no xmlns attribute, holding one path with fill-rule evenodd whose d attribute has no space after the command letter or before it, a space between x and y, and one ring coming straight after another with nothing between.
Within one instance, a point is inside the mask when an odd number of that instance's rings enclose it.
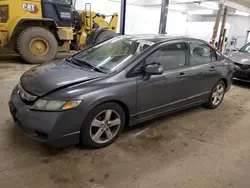
<instances>
[{"instance_id":1,"label":"headlight with amber turn signal on the dark gray foreground sedan","mask_svg":"<svg viewBox=\"0 0 250 188\"><path fill-rule=\"evenodd\" d=\"M32 106L33 110L43 110L43 111L60 111L68 110L77 107L81 103L81 100L75 101L52 101L52 100L42 100L39 99Z\"/></svg>"}]
</instances>

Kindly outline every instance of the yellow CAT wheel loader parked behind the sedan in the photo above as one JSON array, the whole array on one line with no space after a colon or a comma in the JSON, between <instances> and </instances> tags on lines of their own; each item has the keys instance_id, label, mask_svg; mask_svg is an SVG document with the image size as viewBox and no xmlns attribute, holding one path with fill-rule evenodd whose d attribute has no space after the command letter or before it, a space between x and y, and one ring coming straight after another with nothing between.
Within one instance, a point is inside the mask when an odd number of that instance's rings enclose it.
<instances>
[{"instance_id":1,"label":"yellow CAT wheel loader parked behind the sedan","mask_svg":"<svg viewBox=\"0 0 250 188\"><path fill-rule=\"evenodd\" d=\"M53 60L58 52L83 50L117 36L118 14L75 10L76 0L0 0L0 47L28 63Z\"/></svg>"}]
</instances>

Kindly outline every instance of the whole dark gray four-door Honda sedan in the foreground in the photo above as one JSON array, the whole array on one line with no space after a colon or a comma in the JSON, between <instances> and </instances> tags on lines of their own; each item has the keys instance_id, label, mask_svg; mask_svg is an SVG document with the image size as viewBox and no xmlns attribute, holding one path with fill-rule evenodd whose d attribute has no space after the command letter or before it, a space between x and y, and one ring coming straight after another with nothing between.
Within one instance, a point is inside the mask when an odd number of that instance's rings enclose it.
<instances>
[{"instance_id":1,"label":"whole dark gray four-door Honda sedan in the foreground","mask_svg":"<svg viewBox=\"0 0 250 188\"><path fill-rule=\"evenodd\" d=\"M217 108L233 71L233 62L202 40L120 36L28 70L9 107L33 139L101 148L125 126L201 104Z\"/></svg>"}]
</instances>

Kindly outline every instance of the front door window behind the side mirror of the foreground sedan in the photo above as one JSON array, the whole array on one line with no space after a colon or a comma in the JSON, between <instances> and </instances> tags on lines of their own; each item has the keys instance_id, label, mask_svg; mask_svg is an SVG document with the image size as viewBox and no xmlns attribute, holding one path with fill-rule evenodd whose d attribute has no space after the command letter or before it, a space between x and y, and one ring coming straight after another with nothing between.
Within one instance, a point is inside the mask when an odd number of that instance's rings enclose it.
<instances>
[{"instance_id":1,"label":"front door window behind the side mirror of the foreground sedan","mask_svg":"<svg viewBox=\"0 0 250 188\"><path fill-rule=\"evenodd\" d=\"M145 63L160 63L164 70L184 67L186 64L186 43L174 43L161 47L145 59Z\"/></svg>"}]
</instances>

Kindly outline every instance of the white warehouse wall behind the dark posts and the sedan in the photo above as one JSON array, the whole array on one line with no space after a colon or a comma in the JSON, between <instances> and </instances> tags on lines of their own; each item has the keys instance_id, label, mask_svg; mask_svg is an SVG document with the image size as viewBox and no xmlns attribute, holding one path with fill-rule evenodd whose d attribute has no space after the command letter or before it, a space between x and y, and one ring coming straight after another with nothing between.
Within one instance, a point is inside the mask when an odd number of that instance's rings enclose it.
<instances>
[{"instance_id":1,"label":"white warehouse wall behind the dark posts and the sedan","mask_svg":"<svg viewBox=\"0 0 250 188\"><path fill-rule=\"evenodd\" d=\"M85 0L77 1L76 8L83 10L85 3L92 4L92 10L103 14L120 13L119 0ZM128 0L126 17L126 34L156 34L160 22L160 6L155 0ZM144 6L142 6L144 5ZM214 16L187 16L180 12L169 11L167 33L174 35L190 35L209 41L212 36ZM236 37L237 47L246 42L247 31L250 30L250 17L229 16L227 20L227 36L229 40ZM119 24L118 31L119 32Z\"/></svg>"}]
</instances>

